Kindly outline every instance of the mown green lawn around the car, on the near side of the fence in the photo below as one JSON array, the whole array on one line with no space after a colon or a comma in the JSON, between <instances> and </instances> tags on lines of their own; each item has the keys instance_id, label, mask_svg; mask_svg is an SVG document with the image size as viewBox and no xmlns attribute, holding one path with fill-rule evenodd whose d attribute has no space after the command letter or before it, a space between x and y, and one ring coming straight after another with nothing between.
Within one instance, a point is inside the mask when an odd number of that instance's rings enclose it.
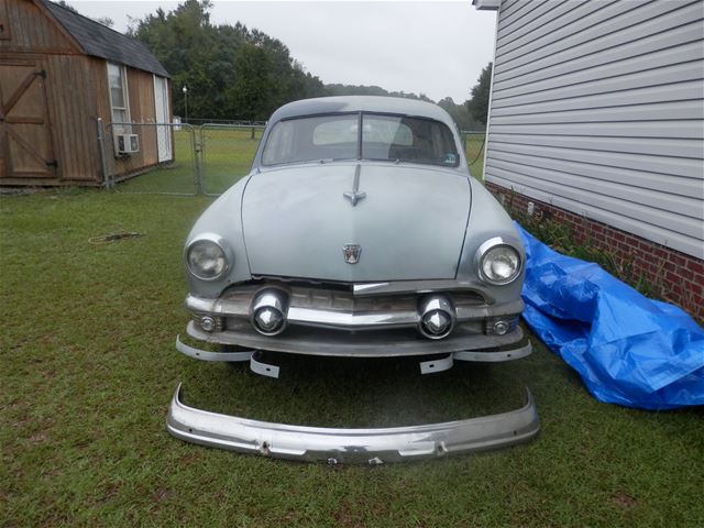
<instances>
[{"instance_id":1,"label":"mown green lawn around the car, on the near side of the fence","mask_svg":"<svg viewBox=\"0 0 704 528\"><path fill-rule=\"evenodd\" d=\"M278 381L180 355L182 244L207 198L56 191L0 198L0 526L702 526L702 409L600 404L538 345L421 377L415 362L286 362ZM92 237L144 237L92 244ZM413 464L327 466L184 443L187 403L331 427L515 408L530 444Z\"/></svg>"}]
</instances>

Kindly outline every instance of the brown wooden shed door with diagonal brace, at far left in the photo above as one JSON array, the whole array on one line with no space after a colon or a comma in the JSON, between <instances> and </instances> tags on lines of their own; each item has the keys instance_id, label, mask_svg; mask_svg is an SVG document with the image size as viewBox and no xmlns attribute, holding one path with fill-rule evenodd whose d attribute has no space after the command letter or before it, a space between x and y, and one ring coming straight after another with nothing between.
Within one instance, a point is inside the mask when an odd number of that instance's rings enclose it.
<instances>
[{"instance_id":1,"label":"brown wooden shed door with diagonal brace, at far left","mask_svg":"<svg viewBox=\"0 0 704 528\"><path fill-rule=\"evenodd\" d=\"M0 61L0 178L54 178L45 72L37 63Z\"/></svg>"}]
</instances>

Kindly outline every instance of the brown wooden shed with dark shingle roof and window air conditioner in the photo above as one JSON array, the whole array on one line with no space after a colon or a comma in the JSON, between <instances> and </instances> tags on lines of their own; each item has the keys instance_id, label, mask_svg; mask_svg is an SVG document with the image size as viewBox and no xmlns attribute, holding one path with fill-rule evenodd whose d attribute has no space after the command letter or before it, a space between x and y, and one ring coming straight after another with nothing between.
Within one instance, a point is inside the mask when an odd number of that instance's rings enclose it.
<instances>
[{"instance_id":1,"label":"brown wooden shed with dark shingle roof and window air conditioner","mask_svg":"<svg viewBox=\"0 0 704 528\"><path fill-rule=\"evenodd\" d=\"M97 118L113 177L173 161L170 129L152 124L170 122L168 79L127 35L48 0L0 0L0 186L100 185Z\"/></svg>"}]
</instances>

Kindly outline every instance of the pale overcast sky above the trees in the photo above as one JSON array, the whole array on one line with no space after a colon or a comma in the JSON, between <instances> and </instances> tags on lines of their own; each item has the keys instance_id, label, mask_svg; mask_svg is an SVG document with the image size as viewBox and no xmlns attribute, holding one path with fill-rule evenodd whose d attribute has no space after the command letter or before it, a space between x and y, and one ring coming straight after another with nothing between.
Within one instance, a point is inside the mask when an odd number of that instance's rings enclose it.
<instances>
[{"instance_id":1,"label":"pale overcast sky above the trees","mask_svg":"<svg viewBox=\"0 0 704 528\"><path fill-rule=\"evenodd\" d=\"M153 0L69 0L81 14L109 16L124 32L129 16L175 9ZM450 96L461 103L492 61L496 15L471 0L427 2L274 2L216 0L211 21L240 21L278 38L326 82L377 85L389 91Z\"/></svg>"}]
</instances>

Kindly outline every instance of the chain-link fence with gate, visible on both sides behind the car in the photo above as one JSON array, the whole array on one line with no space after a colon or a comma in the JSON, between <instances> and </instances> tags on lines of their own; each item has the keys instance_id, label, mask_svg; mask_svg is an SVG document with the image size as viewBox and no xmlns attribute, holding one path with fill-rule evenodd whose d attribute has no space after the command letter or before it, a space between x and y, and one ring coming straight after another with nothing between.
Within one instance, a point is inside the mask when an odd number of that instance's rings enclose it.
<instances>
[{"instance_id":1,"label":"chain-link fence with gate, visible on both sides behind the car","mask_svg":"<svg viewBox=\"0 0 704 528\"><path fill-rule=\"evenodd\" d=\"M125 194L218 196L245 176L265 123L108 123L98 120L105 186ZM484 131L460 131L472 175L482 178Z\"/></svg>"}]
</instances>

